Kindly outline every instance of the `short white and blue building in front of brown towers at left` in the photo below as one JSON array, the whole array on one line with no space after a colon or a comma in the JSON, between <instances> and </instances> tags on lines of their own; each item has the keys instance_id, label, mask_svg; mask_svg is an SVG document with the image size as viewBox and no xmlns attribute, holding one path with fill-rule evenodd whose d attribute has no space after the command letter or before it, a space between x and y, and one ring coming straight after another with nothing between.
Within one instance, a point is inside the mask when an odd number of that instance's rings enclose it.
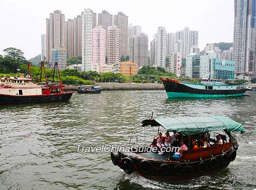
<instances>
[{"instance_id":1,"label":"short white and blue building in front of brown towers at left","mask_svg":"<svg viewBox=\"0 0 256 190\"><path fill-rule=\"evenodd\" d=\"M59 47L57 49L52 50L53 53L53 61L50 62L50 69L53 68L56 62L59 63L59 69L64 70L67 69L67 48Z\"/></svg>"}]
</instances>

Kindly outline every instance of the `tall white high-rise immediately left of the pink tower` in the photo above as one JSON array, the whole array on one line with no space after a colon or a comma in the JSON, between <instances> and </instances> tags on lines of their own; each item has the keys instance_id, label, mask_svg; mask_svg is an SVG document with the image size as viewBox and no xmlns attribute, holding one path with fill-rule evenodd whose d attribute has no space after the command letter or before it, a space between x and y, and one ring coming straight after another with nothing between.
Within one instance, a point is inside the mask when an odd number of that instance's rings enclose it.
<instances>
[{"instance_id":1,"label":"tall white high-rise immediately left of the pink tower","mask_svg":"<svg viewBox=\"0 0 256 190\"><path fill-rule=\"evenodd\" d=\"M92 64L92 28L94 26L94 12L84 9L82 12L82 71L94 69Z\"/></svg>"}]
</instances>

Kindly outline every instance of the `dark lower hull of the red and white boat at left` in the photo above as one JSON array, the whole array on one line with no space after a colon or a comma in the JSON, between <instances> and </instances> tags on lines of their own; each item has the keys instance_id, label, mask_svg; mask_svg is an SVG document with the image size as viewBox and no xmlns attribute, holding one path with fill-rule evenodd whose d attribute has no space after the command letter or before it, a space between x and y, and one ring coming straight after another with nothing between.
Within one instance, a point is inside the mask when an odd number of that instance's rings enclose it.
<instances>
[{"instance_id":1,"label":"dark lower hull of the red and white boat at left","mask_svg":"<svg viewBox=\"0 0 256 190\"><path fill-rule=\"evenodd\" d=\"M67 102L73 92L64 92L58 94L42 94L34 96L11 96L0 94L0 105L7 104L36 104L44 102Z\"/></svg>"}]
</instances>

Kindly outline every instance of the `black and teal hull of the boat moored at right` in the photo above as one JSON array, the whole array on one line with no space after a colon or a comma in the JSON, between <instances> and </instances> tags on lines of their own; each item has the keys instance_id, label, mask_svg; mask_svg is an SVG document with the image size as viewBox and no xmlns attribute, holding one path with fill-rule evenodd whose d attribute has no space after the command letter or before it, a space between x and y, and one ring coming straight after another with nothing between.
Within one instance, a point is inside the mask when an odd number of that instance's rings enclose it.
<instances>
[{"instance_id":1,"label":"black and teal hull of the boat moored at right","mask_svg":"<svg viewBox=\"0 0 256 190\"><path fill-rule=\"evenodd\" d=\"M201 98L226 98L244 96L246 88L234 90L203 90L191 88L182 83L176 83L169 80L162 80L168 98L172 99L201 99Z\"/></svg>"}]
</instances>

